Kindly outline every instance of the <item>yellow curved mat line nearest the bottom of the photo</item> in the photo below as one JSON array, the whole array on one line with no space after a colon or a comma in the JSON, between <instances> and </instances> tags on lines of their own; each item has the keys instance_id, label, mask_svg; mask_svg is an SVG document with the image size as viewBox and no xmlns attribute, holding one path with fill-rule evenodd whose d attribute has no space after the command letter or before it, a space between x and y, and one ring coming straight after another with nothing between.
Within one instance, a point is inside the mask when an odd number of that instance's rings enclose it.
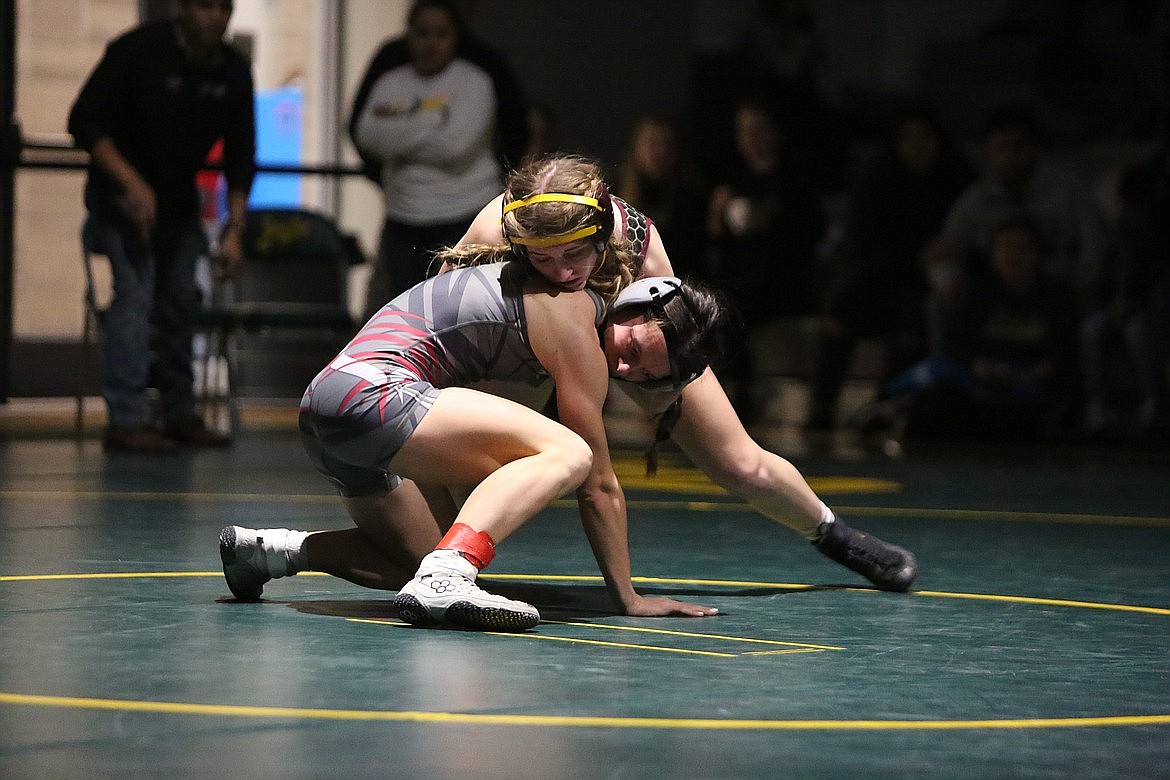
<instances>
[{"instance_id":1,"label":"yellow curved mat line nearest the bottom of the photo","mask_svg":"<svg viewBox=\"0 0 1170 780\"><path fill-rule=\"evenodd\" d=\"M1082 729L1086 726L1162 726L1170 715L1094 718L1004 718L998 720L765 720L720 718L614 718L556 715L473 715L388 710L329 710L311 707L242 706L188 702L32 696L0 692L0 704L54 706L73 710L113 710L167 715L209 715L238 718L296 718L316 720L385 720L479 726L576 726L608 729L696 729L722 731L956 731L971 729Z\"/></svg>"}]
</instances>

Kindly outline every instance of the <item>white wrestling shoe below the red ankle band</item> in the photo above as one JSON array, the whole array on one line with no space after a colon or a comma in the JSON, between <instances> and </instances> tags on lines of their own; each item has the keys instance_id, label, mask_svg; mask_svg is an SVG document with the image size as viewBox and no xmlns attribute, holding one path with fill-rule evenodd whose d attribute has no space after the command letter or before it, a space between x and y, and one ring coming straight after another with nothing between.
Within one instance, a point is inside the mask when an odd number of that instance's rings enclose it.
<instances>
[{"instance_id":1,"label":"white wrestling shoe below the red ankle band","mask_svg":"<svg viewBox=\"0 0 1170 780\"><path fill-rule=\"evenodd\" d=\"M525 631L541 622L541 613L532 605L477 586L476 573L475 566L454 550L436 550L422 559L418 574L394 596L394 608L413 626Z\"/></svg>"}]
</instances>

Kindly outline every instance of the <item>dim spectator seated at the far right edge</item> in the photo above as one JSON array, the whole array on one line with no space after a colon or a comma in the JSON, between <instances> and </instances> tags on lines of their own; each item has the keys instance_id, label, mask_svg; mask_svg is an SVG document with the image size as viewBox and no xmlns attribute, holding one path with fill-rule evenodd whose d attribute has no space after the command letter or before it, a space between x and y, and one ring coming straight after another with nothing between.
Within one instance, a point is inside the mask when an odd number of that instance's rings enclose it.
<instances>
[{"instance_id":1,"label":"dim spectator seated at the far right edge","mask_svg":"<svg viewBox=\"0 0 1170 780\"><path fill-rule=\"evenodd\" d=\"M1108 381L1114 344L1124 347L1136 380L1138 435L1157 421L1170 379L1170 141L1141 165L1126 170L1117 186L1121 213L1116 256L1104 279L1102 305L1081 327L1085 429L1089 435L1120 433L1114 426L1114 395ZM1161 330L1159 330L1161 329ZM1161 354L1159 354L1161 351ZM1110 429L1114 429L1110 432Z\"/></svg>"}]
</instances>

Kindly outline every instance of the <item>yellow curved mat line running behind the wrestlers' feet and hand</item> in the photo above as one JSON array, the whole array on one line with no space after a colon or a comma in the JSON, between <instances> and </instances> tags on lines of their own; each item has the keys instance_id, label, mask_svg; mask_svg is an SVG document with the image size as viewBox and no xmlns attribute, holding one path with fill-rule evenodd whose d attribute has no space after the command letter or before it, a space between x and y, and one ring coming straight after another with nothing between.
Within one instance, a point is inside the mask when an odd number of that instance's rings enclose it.
<instances>
[{"instance_id":1,"label":"yellow curved mat line running behind the wrestlers' feet and hand","mask_svg":"<svg viewBox=\"0 0 1170 780\"><path fill-rule=\"evenodd\" d=\"M181 577L223 577L222 572L91 572L82 574L0 574L0 582L32 582L46 580L125 580L125 579L150 579L150 578L181 578ZM321 572L302 572L297 577L329 577ZM597 574L480 574L488 580L528 580L536 582L604 582ZM879 594L881 591L867 587L838 587L827 588L823 585L807 585L800 582L764 582L759 580L706 580L679 577L634 577L639 585L703 585L711 587L752 587L752 588L779 588L784 591L848 591L856 593ZM1045 599L1038 596L1017 596L998 593L958 593L951 591L910 591L907 595L925 596L934 599L970 599L975 601L1006 601L1011 603L1044 605L1048 607L1074 607L1079 609L1109 609L1114 612L1137 612L1149 615L1168 615L1170 609L1163 607L1143 607L1127 603L1108 603L1104 601L1076 601L1073 599Z\"/></svg>"}]
</instances>

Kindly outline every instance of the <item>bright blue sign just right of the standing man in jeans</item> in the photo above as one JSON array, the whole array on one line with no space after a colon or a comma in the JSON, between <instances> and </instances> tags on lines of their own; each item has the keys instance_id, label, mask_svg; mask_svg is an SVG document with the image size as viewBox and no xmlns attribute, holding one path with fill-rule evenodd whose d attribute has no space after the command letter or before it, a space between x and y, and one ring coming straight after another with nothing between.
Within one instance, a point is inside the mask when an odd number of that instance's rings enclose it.
<instances>
[{"instance_id":1,"label":"bright blue sign just right of the standing man in jeans","mask_svg":"<svg viewBox=\"0 0 1170 780\"><path fill-rule=\"evenodd\" d=\"M304 95L300 87L256 90L256 163L301 165ZM248 199L253 208L301 205L301 177L261 173Z\"/></svg>"}]
</instances>

